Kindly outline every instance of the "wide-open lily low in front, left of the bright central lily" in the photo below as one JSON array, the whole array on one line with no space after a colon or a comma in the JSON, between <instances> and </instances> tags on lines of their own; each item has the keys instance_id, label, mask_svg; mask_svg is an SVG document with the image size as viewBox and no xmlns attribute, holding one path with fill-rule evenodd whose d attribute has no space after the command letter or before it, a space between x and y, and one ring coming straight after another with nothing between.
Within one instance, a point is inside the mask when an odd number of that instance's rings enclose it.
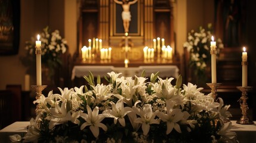
<instances>
[{"instance_id":1,"label":"wide-open lily low in front, left of the bright central lily","mask_svg":"<svg viewBox=\"0 0 256 143\"><path fill-rule=\"evenodd\" d=\"M98 114L98 107L95 107L93 111L87 105L88 114L82 113L81 117L86 121L81 125L81 130L84 129L86 126L90 126L90 130L95 138L98 137L100 132L99 128L102 128L104 131L107 130L107 126L103 123L100 123L105 117L103 114Z\"/></svg>"}]
</instances>

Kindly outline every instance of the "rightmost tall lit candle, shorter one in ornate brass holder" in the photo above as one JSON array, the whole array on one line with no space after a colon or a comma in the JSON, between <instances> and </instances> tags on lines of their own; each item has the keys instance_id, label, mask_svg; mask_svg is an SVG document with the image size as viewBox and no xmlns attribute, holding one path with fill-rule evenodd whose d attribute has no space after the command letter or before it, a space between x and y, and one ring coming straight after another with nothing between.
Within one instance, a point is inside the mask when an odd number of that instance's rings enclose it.
<instances>
[{"instance_id":1,"label":"rightmost tall lit candle, shorter one in ornate brass holder","mask_svg":"<svg viewBox=\"0 0 256 143\"><path fill-rule=\"evenodd\" d=\"M242 86L246 87L247 86L247 72L248 72L248 67L247 67L247 52L246 48L243 47L243 53L242 53Z\"/></svg>"}]
</instances>

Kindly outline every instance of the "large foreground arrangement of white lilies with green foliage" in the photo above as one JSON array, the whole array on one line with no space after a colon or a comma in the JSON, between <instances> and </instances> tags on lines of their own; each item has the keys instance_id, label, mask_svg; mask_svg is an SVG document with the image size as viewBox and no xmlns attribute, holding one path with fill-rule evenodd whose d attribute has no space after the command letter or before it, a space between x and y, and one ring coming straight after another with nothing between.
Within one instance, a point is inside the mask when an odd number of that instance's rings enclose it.
<instances>
[{"instance_id":1,"label":"large foreground arrangement of white lilies with green foliage","mask_svg":"<svg viewBox=\"0 0 256 143\"><path fill-rule=\"evenodd\" d=\"M107 73L108 85L100 77L84 76L90 85L49 92L37 103L36 118L23 142L234 142L231 114L218 98L204 95L202 88L176 85L174 78L119 77ZM14 138L14 136L12 136Z\"/></svg>"}]
</instances>

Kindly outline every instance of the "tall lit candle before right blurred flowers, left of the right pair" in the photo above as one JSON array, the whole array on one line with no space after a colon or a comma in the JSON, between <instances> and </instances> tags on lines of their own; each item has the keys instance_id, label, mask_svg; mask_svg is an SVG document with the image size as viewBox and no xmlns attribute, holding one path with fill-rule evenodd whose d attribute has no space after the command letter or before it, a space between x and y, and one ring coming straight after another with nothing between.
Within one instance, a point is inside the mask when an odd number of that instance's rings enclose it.
<instances>
[{"instance_id":1,"label":"tall lit candle before right blurred flowers, left of the right pair","mask_svg":"<svg viewBox=\"0 0 256 143\"><path fill-rule=\"evenodd\" d=\"M212 83L217 83L216 77L216 42L214 37L211 37L211 70L212 70Z\"/></svg>"}]
</instances>

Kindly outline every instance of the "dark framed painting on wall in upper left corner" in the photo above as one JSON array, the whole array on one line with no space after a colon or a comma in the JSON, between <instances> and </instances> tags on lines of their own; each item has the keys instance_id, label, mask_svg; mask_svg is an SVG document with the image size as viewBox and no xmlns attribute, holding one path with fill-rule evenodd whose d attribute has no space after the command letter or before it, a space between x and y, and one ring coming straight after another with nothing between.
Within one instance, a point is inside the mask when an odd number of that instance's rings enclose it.
<instances>
[{"instance_id":1,"label":"dark framed painting on wall in upper left corner","mask_svg":"<svg viewBox=\"0 0 256 143\"><path fill-rule=\"evenodd\" d=\"M20 0L0 0L0 55L18 54Z\"/></svg>"}]
</instances>

